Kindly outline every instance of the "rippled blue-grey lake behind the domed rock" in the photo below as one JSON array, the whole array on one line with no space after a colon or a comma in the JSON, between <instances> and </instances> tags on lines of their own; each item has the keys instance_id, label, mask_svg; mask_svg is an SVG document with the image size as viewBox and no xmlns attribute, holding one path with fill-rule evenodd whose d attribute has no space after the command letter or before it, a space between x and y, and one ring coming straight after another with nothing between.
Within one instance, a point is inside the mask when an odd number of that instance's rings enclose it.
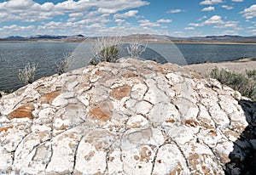
<instances>
[{"instance_id":1,"label":"rippled blue-grey lake behind the domed rock","mask_svg":"<svg viewBox=\"0 0 256 175\"><path fill-rule=\"evenodd\" d=\"M127 56L126 46L120 49L120 56ZM147 47L141 59L178 65L256 57L256 44L149 43ZM0 42L0 91L23 86L17 75L28 62L38 64L38 79L55 74L56 63L68 54L73 55L70 69L87 65L93 58L91 48L88 42Z\"/></svg>"}]
</instances>

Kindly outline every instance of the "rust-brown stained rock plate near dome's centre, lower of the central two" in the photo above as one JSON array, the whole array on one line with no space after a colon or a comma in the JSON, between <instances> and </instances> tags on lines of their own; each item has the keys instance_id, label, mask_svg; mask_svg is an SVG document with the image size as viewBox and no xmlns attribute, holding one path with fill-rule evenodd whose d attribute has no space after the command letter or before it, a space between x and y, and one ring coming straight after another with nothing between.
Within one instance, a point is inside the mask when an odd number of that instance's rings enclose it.
<instances>
[{"instance_id":1,"label":"rust-brown stained rock plate near dome's centre, lower of the central two","mask_svg":"<svg viewBox=\"0 0 256 175\"><path fill-rule=\"evenodd\" d=\"M108 121L113 115L113 112L111 111L112 109L113 104L111 102L103 101L89 110L89 116L92 119Z\"/></svg>"}]
</instances>

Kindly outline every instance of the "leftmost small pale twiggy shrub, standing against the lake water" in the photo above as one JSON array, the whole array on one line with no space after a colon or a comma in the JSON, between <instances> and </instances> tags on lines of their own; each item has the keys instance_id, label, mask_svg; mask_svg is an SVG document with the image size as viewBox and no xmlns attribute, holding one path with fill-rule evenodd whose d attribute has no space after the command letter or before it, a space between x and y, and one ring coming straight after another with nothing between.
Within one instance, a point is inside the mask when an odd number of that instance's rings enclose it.
<instances>
[{"instance_id":1,"label":"leftmost small pale twiggy shrub, standing against the lake water","mask_svg":"<svg viewBox=\"0 0 256 175\"><path fill-rule=\"evenodd\" d=\"M38 65L36 64L28 63L23 70L19 70L18 77L20 82L23 82L24 84L32 83L36 75L37 66Z\"/></svg>"}]
</instances>

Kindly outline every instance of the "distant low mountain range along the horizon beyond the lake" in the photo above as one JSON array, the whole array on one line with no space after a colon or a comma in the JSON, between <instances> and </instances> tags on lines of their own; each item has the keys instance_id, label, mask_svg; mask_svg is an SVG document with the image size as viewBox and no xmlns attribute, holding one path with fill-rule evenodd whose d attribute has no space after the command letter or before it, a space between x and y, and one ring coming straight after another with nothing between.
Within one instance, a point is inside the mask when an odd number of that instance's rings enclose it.
<instances>
[{"instance_id":1,"label":"distant low mountain range along the horizon beyond the lake","mask_svg":"<svg viewBox=\"0 0 256 175\"><path fill-rule=\"evenodd\" d=\"M252 37L241 37L241 36L207 36L207 37L170 37L170 36L160 36L160 35L131 35L125 38L130 38L134 36L139 36L142 41L161 41L170 39L172 42L256 42L256 36ZM60 40L60 41L81 41L84 39L95 39L96 37L84 37L84 35L74 35L74 36L53 36L53 35L37 35L31 37L20 37L20 36L10 36L0 39L0 41L38 41L38 40Z\"/></svg>"}]
</instances>

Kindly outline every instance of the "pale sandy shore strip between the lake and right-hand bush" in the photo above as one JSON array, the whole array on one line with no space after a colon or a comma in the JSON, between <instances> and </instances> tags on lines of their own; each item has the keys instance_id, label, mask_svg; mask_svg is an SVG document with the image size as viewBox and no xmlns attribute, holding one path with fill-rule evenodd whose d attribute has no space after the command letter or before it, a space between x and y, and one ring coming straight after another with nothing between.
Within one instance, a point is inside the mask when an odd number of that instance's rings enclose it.
<instances>
[{"instance_id":1,"label":"pale sandy shore strip between the lake and right-hand bush","mask_svg":"<svg viewBox=\"0 0 256 175\"><path fill-rule=\"evenodd\" d=\"M246 70L256 70L256 58L237 59L219 63L203 63L195 65L186 65L190 71L200 73L206 76L214 67L225 68L230 71L245 72Z\"/></svg>"}]
</instances>

